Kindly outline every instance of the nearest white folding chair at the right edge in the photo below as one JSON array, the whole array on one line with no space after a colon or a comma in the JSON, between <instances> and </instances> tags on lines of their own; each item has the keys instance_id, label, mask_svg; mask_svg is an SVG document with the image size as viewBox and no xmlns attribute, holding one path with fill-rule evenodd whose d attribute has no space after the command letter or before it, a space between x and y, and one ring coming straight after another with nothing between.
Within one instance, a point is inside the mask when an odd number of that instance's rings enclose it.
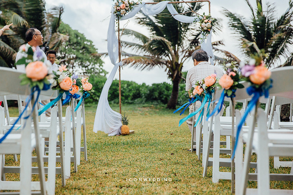
<instances>
[{"instance_id":1,"label":"nearest white folding chair at the right edge","mask_svg":"<svg viewBox=\"0 0 293 195\"><path fill-rule=\"evenodd\" d=\"M273 87L270 89L270 95L293 99L293 85L288 84L288 80L292 78L293 67L275 68L272 69L271 72ZM259 109L258 115L258 124L267 121L267 116L261 109ZM254 115L254 121L256 118L257 115ZM260 125L259 132L256 134L257 136L254 136L254 126L255 122L252 123L246 138L243 177L239 186L239 191L237 190L239 194L246 194L252 148L254 148L258 154L258 194L270 193L269 156L274 156L276 154L293 156L293 134L280 134L280 130L277 130L277 132L273 132L272 130L268 131L265 125ZM272 145L275 147L274 150L269 150ZM278 192L274 191L273 193L277 194ZM280 191L280 193L284 193L284 191Z\"/></svg>"}]
</instances>

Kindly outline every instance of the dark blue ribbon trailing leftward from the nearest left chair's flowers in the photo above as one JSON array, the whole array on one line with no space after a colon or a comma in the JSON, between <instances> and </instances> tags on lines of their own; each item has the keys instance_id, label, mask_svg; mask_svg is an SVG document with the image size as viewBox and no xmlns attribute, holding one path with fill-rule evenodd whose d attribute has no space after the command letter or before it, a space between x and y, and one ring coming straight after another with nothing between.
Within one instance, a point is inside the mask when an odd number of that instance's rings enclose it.
<instances>
[{"instance_id":1,"label":"dark blue ribbon trailing leftward from the nearest left chair's flowers","mask_svg":"<svg viewBox=\"0 0 293 195\"><path fill-rule=\"evenodd\" d=\"M34 95L35 92L38 92L38 94L37 94L36 100L35 100L35 102L34 102L34 104L33 104L33 108L32 108L32 110L31 110L30 114L29 114L28 116L24 117L24 119L28 119L28 118L30 117L30 115L32 114L32 112L33 112L33 110L34 110L34 108L35 108L36 103L38 102L38 98L39 98L39 96L40 96L40 92L41 92L41 90L39 89L38 86L35 86L35 87L33 87L33 88L31 89L31 93L30 93L30 95L29 95L28 101L26 102L25 108L24 108L23 111L20 113L20 115L18 116L17 120L13 123L12 127L10 127L10 129L4 134L3 137L1 137L1 139L0 139L0 144L1 144L2 141L8 136L8 134L11 133L11 131L13 130L13 127L14 127L14 126L16 125L16 123L20 120L21 116L23 115L23 113L24 113L24 112L26 111L26 109L28 108L28 104L29 104L30 101L32 100L33 95ZM25 125L26 125L26 123L24 124L24 127L25 127ZM19 127L18 127L18 128L19 128Z\"/></svg>"}]
</instances>

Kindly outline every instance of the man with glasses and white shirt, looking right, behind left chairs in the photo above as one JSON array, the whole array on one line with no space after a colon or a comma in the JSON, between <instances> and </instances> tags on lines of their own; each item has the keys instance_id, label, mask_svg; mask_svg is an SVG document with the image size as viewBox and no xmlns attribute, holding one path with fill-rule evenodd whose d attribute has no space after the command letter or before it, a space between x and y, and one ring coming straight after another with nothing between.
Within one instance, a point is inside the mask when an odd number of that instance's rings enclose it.
<instances>
[{"instance_id":1,"label":"man with glasses and white shirt, looking right, behind left chairs","mask_svg":"<svg viewBox=\"0 0 293 195\"><path fill-rule=\"evenodd\" d=\"M45 52L39 47L39 45L43 44L43 34L36 28L29 28L25 32L25 39L28 42L25 47L28 49L29 47L35 47L36 51L39 50L42 53L42 58L47 59ZM23 54L18 51L16 54L15 62L20 60L23 57ZM20 72L25 72L25 65L16 65L16 69ZM50 103L50 100L43 100L42 104L46 105ZM51 108L46 111L46 116L51 116Z\"/></svg>"}]
</instances>

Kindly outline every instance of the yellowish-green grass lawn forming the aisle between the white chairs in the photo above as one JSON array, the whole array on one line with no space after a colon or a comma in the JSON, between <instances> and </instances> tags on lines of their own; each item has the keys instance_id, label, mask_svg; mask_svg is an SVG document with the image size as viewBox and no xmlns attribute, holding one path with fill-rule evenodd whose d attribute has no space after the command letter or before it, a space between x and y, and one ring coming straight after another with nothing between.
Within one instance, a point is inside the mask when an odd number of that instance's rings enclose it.
<instances>
[{"instance_id":1,"label":"yellowish-green grass lawn forming the aisle between the white chairs","mask_svg":"<svg viewBox=\"0 0 293 195\"><path fill-rule=\"evenodd\" d=\"M88 161L81 156L78 172L73 172L71 163L71 177L65 187L61 186L60 175L56 176L56 194L231 194L230 181L212 183L212 167L203 178L201 161L195 153L186 151L191 133L186 124L178 127L186 114L173 114L165 106L122 105L122 114L128 115L130 130L135 133L109 137L93 132L96 107L85 108ZM119 110L117 105L112 108ZM290 169L277 172L289 173ZM168 181L154 182L153 178ZM256 187L255 182L249 182L249 187ZM271 188L293 189L293 183L271 182Z\"/></svg>"}]
</instances>

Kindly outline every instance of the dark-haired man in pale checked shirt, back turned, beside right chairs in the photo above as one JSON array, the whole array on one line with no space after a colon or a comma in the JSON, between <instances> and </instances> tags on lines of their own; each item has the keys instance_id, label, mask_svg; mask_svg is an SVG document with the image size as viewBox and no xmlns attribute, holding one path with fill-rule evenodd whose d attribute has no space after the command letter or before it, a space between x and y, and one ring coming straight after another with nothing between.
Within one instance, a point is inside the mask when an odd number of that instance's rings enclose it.
<instances>
[{"instance_id":1,"label":"dark-haired man in pale checked shirt, back turned, beside right chairs","mask_svg":"<svg viewBox=\"0 0 293 195\"><path fill-rule=\"evenodd\" d=\"M189 94L189 97L190 96L190 92L189 90L192 88L192 85L198 81L198 80L202 80L203 78L213 74L213 73L216 73L217 74L217 77L222 77L223 74L224 74L224 71L219 68L219 67L216 67L214 65L211 65L208 61L209 61L209 57L207 56L207 52L206 51L203 51L201 49L199 50L196 50L193 52L193 54L191 55L192 57L192 60L193 60L193 64L194 64L194 67L193 68L190 68L187 72L187 75L186 75L186 86L185 86L185 90L188 91L188 94ZM197 101L195 103L195 106L198 106L200 107L201 106L201 103L200 101ZM223 114L224 112L224 106L222 108L222 111L221 111L221 115ZM193 112L193 104L190 104L189 106L189 113L192 113ZM189 130L190 132L192 132L192 130L195 131L195 128L192 127L192 118L189 118L187 121L186 121L188 127L189 127ZM195 133L194 133L194 139L195 141ZM193 150L195 150L195 146L193 148Z\"/></svg>"}]
</instances>

